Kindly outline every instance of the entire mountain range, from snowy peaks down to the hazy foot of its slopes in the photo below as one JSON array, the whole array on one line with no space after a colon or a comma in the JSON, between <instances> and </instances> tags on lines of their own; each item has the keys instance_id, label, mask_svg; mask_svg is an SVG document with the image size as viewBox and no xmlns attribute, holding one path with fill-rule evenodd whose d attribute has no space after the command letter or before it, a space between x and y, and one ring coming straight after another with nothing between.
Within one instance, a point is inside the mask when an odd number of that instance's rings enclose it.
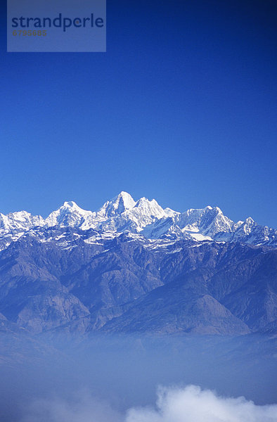
<instances>
[{"instance_id":1,"label":"entire mountain range, from snowy peaks down to the hazy foot of its slopes","mask_svg":"<svg viewBox=\"0 0 277 422\"><path fill-rule=\"evenodd\" d=\"M0 214L1 331L276 332L276 230L120 193Z\"/></svg>"}]
</instances>

